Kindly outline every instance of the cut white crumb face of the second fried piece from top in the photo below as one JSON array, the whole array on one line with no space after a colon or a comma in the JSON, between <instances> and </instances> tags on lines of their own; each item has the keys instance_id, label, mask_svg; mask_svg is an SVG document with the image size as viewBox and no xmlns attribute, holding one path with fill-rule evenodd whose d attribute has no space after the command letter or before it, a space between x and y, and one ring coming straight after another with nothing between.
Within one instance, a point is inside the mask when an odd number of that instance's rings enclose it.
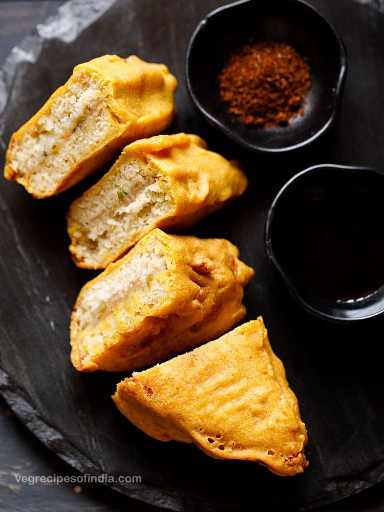
<instances>
[{"instance_id":1,"label":"cut white crumb face of the second fried piece from top","mask_svg":"<svg viewBox=\"0 0 384 512\"><path fill-rule=\"evenodd\" d=\"M70 250L81 266L102 268L109 254L126 252L128 243L133 245L172 209L166 181L142 160L126 160L97 193L84 194L71 206L68 218L76 247Z\"/></svg>"}]
</instances>

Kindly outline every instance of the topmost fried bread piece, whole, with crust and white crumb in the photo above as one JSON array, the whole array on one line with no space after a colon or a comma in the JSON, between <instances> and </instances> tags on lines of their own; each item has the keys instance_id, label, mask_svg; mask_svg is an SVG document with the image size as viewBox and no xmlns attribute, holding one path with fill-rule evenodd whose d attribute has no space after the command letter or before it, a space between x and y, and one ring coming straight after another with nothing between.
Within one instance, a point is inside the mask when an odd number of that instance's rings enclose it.
<instances>
[{"instance_id":1,"label":"topmost fried bread piece, whole, with crust and white crumb","mask_svg":"<svg viewBox=\"0 0 384 512\"><path fill-rule=\"evenodd\" d=\"M79 64L10 140L4 175L36 198L74 185L174 119L176 78L135 55Z\"/></svg>"}]
</instances>

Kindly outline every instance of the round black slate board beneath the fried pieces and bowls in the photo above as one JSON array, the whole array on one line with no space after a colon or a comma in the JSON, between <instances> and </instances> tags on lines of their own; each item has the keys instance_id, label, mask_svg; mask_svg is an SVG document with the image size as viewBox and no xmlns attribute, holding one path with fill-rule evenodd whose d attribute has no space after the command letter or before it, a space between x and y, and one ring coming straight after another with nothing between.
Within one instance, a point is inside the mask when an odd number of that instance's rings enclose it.
<instances>
[{"instance_id":1,"label":"round black slate board beneath the fried pieces and bowls","mask_svg":"<svg viewBox=\"0 0 384 512\"><path fill-rule=\"evenodd\" d=\"M76 372L69 361L69 318L80 270L67 250L68 205L95 178L56 198L37 201L2 178L0 264L2 394L28 428L84 473L140 475L110 484L173 510L299 510L349 496L384 479L382 364L376 356L383 317L332 325L295 306L269 268L263 248L266 213L290 176L316 163L384 167L384 9L380 0L313 0L342 34L349 71L338 122L321 141L286 156L240 150L200 118L184 81L184 53L196 25L217 0L69 2L13 51L0 75L1 163L11 133L71 74L76 63L104 53L165 62L179 80L178 116L169 133L204 137L238 158L250 185L229 207L191 232L239 246L255 278L245 290L246 319L262 314L284 361L310 442L303 475L280 478L258 464L218 461L194 445L161 443L138 431L110 399L126 374ZM141 45L143 42L143 45Z\"/></svg>"}]
</instances>

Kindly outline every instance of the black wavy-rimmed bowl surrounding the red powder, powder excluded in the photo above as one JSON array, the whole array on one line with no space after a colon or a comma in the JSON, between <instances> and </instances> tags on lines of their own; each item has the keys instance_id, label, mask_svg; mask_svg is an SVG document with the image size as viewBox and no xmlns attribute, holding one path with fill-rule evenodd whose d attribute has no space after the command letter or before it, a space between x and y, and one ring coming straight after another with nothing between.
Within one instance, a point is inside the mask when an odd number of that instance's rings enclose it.
<instances>
[{"instance_id":1,"label":"black wavy-rimmed bowl surrounding the red powder, powder excluded","mask_svg":"<svg viewBox=\"0 0 384 512\"><path fill-rule=\"evenodd\" d=\"M249 38L287 42L308 57L312 85L304 114L288 126L259 129L233 120L220 101L217 75L229 54ZM303 147L323 135L339 110L347 55L323 13L302 0L244 0L212 11L200 22L186 52L192 100L202 115L240 145L264 153Z\"/></svg>"}]
</instances>

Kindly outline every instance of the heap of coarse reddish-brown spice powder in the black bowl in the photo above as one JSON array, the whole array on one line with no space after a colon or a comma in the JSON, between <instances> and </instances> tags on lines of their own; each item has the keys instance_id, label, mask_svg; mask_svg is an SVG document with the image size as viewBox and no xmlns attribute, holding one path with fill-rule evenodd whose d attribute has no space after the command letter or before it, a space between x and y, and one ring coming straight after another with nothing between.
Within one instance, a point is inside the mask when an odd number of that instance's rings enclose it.
<instances>
[{"instance_id":1,"label":"heap of coarse reddish-brown spice powder in the black bowl","mask_svg":"<svg viewBox=\"0 0 384 512\"><path fill-rule=\"evenodd\" d=\"M245 124L287 125L303 114L311 87L307 59L284 42L249 42L234 51L218 76L220 98Z\"/></svg>"}]
</instances>

